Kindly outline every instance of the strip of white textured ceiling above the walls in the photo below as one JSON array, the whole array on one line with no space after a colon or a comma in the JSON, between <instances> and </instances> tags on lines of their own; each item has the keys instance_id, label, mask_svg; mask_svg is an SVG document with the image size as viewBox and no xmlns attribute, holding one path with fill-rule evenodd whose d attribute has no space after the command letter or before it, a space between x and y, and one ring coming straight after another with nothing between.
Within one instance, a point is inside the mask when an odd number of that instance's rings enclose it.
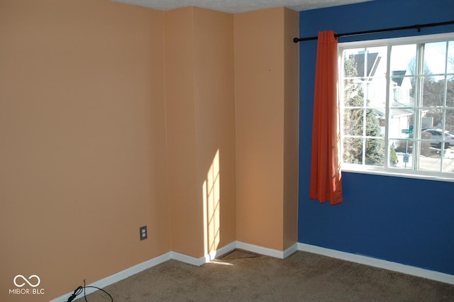
<instances>
[{"instance_id":1,"label":"strip of white textured ceiling above the walls","mask_svg":"<svg viewBox=\"0 0 454 302\"><path fill-rule=\"evenodd\" d=\"M339 6L354 4L372 0L111 0L125 4L168 11L185 6L198 6L214 11L226 13L244 13L246 11L257 11L259 9L271 9L284 6L294 11L307 11L309 9L321 9L328 6Z\"/></svg>"}]
</instances>

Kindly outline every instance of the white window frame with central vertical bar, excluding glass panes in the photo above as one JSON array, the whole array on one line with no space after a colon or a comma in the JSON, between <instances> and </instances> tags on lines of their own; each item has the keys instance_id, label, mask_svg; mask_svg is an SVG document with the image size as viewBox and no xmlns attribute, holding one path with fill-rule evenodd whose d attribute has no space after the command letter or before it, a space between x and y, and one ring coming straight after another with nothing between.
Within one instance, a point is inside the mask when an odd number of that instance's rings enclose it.
<instances>
[{"instance_id":1,"label":"white window frame with central vertical bar, excluding glass panes","mask_svg":"<svg viewBox=\"0 0 454 302\"><path fill-rule=\"evenodd\" d=\"M390 64L390 55L389 47L396 46L396 45L408 45L408 44L418 44L421 43L436 43L436 42L446 42L454 40L454 33L439 33L433 35L415 35L415 36L407 36L401 38L385 38L385 39L377 39L377 40L360 40L354 42L339 42L338 43L338 107L339 107L339 124L341 129L341 153L339 155L340 163L341 163L341 171L342 172L355 172L355 173L362 173L362 174L379 174L379 175L386 175L386 176L394 176L394 177L408 177L408 178L416 178L416 179L428 179L428 180L438 180L438 181L451 181L454 182L454 172L433 172L433 171L425 171L419 169L402 169L396 167L389 167L389 125L390 119L386 118L386 130L384 133L384 166L374 166L374 165L366 165L366 164L349 164L343 162L343 51L348 49L354 48L371 48L371 47L388 47L387 50L387 72L389 72L389 64ZM390 104L389 104L389 74L386 74L386 116L389 116L390 111ZM413 106L414 110L419 108L418 106ZM443 128L444 129L444 128ZM421 138L419 138L421 140ZM419 157L421 156L418 153L418 159L415 161L419 161Z\"/></svg>"}]
</instances>

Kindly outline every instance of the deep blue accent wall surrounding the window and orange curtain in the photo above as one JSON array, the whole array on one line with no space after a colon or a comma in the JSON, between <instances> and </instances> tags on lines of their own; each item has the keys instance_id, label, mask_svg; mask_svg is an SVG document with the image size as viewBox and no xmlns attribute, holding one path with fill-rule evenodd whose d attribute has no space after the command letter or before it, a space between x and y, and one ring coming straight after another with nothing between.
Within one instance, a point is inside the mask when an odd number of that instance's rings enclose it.
<instances>
[{"instance_id":1,"label":"deep blue accent wall surrounding the window and orange curtain","mask_svg":"<svg viewBox=\"0 0 454 302\"><path fill-rule=\"evenodd\" d=\"M300 37L454 20L453 0L375 0L300 12ZM339 42L454 32L454 26ZM309 199L316 40L299 43L298 241L454 275L454 183L343 172L344 202Z\"/></svg>"}]
</instances>

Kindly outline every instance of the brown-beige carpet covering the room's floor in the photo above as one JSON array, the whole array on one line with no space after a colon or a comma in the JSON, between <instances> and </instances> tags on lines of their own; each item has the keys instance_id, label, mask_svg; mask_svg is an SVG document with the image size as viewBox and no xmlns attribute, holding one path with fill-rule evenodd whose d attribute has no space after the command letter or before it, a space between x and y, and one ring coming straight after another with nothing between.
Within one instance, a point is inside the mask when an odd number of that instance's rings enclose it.
<instances>
[{"instance_id":1,"label":"brown-beige carpet covering the room's floor","mask_svg":"<svg viewBox=\"0 0 454 302\"><path fill-rule=\"evenodd\" d=\"M170 260L104 289L116 302L454 301L454 285L308 252L276 259L235 250L201 267ZM111 300L96 291L87 301Z\"/></svg>"}]
</instances>

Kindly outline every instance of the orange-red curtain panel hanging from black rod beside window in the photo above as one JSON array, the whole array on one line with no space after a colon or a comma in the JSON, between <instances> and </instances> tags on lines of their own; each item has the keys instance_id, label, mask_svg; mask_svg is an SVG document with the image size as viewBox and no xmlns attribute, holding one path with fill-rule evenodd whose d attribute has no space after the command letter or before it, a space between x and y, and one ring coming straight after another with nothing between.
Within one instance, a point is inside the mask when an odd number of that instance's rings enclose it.
<instances>
[{"instance_id":1,"label":"orange-red curtain panel hanging from black rod beside window","mask_svg":"<svg viewBox=\"0 0 454 302\"><path fill-rule=\"evenodd\" d=\"M333 30L319 32L312 123L309 198L341 203L340 136L337 101L338 48Z\"/></svg>"}]
</instances>

